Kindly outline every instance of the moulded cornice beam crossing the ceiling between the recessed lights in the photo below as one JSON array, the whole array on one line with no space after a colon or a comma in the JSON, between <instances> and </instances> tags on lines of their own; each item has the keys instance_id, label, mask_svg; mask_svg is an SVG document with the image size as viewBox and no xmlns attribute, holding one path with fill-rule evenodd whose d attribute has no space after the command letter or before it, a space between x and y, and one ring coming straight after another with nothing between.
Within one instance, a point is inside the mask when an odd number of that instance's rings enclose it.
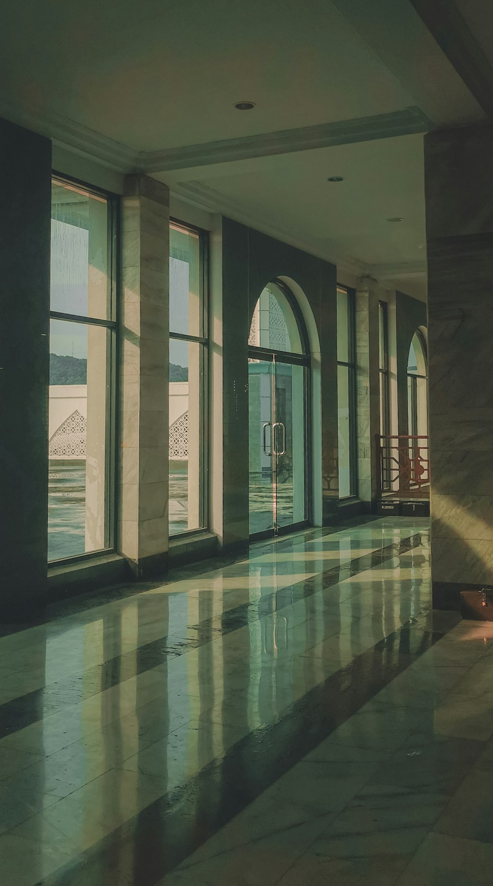
<instances>
[{"instance_id":1,"label":"moulded cornice beam crossing the ceiling between the recessed lights","mask_svg":"<svg viewBox=\"0 0 493 886\"><path fill-rule=\"evenodd\" d=\"M402 111L375 114L373 117L281 129L278 132L267 132L258 136L227 138L220 142L184 145L181 148L165 148L163 151L141 154L139 163L146 173L171 172L174 169L312 151L315 148L328 148L336 144L409 136L428 132L432 128L434 127L431 120L415 105Z\"/></svg>"}]
</instances>

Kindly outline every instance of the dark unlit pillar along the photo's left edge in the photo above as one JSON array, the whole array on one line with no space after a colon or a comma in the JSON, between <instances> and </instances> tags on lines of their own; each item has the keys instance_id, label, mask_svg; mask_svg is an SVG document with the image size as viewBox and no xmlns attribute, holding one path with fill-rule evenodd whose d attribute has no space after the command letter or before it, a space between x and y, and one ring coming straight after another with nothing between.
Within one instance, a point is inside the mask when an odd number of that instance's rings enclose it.
<instances>
[{"instance_id":1,"label":"dark unlit pillar along the photo's left edge","mask_svg":"<svg viewBox=\"0 0 493 886\"><path fill-rule=\"evenodd\" d=\"M48 546L51 143L0 120L2 618L42 602Z\"/></svg>"}]
</instances>

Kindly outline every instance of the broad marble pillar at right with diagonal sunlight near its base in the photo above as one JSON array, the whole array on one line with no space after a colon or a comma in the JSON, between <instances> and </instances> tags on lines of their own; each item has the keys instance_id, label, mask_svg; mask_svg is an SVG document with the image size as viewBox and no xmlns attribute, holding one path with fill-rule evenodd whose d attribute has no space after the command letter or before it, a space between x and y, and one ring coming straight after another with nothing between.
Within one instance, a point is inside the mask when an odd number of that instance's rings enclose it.
<instances>
[{"instance_id":1,"label":"broad marble pillar at right with diagonal sunlight near its base","mask_svg":"<svg viewBox=\"0 0 493 886\"><path fill-rule=\"evenodd\" d=\"M493 585L493 128L425 137L435 608Z\"/></svg>"}]
</instances>

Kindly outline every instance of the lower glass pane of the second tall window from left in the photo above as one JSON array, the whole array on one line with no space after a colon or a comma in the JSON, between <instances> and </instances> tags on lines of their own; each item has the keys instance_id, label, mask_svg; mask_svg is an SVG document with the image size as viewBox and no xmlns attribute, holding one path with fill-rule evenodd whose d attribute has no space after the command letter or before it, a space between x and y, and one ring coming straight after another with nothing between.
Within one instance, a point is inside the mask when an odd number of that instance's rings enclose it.
<instances>
[{"instance_id":1,"label":"lower glass pane of the second tall window from left","mask_svg":"<svg viewBox=\"0 0 493 886\"><path fill-rule=\"evenodd\" d=\"M203 525L204 345L169 343L169 532Z\"/></svg>"}]
</instances>

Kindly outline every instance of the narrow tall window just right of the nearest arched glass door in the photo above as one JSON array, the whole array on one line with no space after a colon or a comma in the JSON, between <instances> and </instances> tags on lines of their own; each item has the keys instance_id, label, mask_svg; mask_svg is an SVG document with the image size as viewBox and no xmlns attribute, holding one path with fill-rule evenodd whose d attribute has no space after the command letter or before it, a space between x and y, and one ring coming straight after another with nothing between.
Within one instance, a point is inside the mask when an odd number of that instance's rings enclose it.
<instances>
[{"instance_id":1,"label":"narrow tall window just right of the nearest arched glass door","mask_svg":"<svg viewBox=\"0 0 493 886\"><path fill-rule=\"evenodd\" d=\"M337 288L337 426L339 498L356 494L354 292Z\"/></svg>"}]
</instances>

